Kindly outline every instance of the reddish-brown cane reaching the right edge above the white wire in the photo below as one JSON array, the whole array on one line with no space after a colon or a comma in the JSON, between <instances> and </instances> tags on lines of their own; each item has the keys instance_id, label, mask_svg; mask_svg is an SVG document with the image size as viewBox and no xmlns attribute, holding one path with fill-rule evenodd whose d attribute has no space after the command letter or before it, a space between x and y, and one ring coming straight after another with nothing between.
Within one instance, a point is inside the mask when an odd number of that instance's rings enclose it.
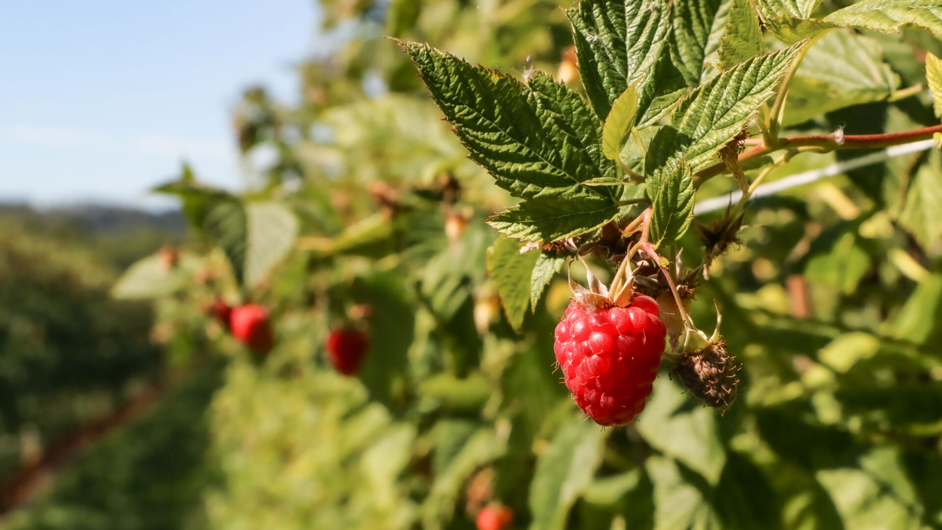
<instances>
[{"instance_id":1,"label":"reddish-brown cane reaching the right edge above the white wire","mask_svg":"<svg viewBox=\"0 0 942 530\"><path fill-rule=\"evenodd\" d=\"M776 147L770 147L764 142L756 145L752 149L746 150L739 155L739 163L752 160L757 157L764 157L779 151L781 149L815 147L818 152L826 153L829 151L839 151L845 149L875 149L879 147L889 147L890 145L900 145L902 143L911 143L913 141L929 140L937 132L942 132L942 125L923 127L911 131L886 134L860 134L843 135L841 133L832 134L810 134L791 136L778 139ZM699 188L710 178L726 172L726 166L719 162L693 174L693 187Z\"/></svg>"}]
</instances>

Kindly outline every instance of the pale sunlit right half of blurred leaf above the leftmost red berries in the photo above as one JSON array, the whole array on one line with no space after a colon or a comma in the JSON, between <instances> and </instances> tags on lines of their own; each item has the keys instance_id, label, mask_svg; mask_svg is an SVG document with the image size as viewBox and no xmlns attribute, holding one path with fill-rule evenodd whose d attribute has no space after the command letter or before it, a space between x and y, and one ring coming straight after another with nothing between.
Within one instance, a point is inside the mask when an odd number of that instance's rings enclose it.
<instances>
[{"instance_id":1,"label":"pale sunlit right half of blurred leaf above the leftmost red berries","mask_svg":"<svg viewBox=\"0 0 942 530\"><path fill-rule=\"evenodd\" d=\"M245 283L255 286L280 263L298 238L298 218L281 203L250 203L245 208L247 247Z\"/></svg>"}]
</instances>

